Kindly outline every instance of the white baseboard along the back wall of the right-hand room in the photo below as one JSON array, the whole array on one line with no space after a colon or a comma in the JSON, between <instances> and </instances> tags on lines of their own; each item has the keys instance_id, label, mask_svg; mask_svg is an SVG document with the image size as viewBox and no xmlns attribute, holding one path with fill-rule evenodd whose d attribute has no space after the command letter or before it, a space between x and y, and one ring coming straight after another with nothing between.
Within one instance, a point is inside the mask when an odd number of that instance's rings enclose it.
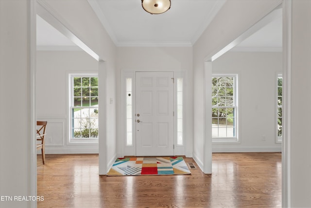
<instances>
[{"instance_id":1,"label":"white baseboard along the back wall of the right-hand room","mask_svg":"<svg viewBox=\"0 0 311 208\"><path fill-rule=\"evenodd\" d=\"M212 152L281 152L281 147L212 148Z\"/></svg>"}]
</instances>

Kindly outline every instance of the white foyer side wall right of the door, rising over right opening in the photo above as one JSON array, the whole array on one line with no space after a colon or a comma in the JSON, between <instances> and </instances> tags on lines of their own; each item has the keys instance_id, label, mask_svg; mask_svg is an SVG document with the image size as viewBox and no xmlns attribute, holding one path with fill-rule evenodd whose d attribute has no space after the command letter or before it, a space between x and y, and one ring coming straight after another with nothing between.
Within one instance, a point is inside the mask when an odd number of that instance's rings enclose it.
<instances>
[{"instance_id":1,"label":"white foyer side wall right of the door, rising over right opening","mask_svg":"<svg viewBox=\"0 0 311 208\"><path fill-rule=\"evenodd\" d=\"M202 114L205 110L204 61L208 61L211 56L242 35L280 2L281 0L227 0L195 42L193 46L193 79L195 80L193 82L193 154L198 163L204 164L205 161L211 161L211 152L204 152L203 148L205 145L211 145L211 132L204 129L205 117ZM208 166L208 172L211 172L211 162Z\"/></svg>"}]
</instances>

